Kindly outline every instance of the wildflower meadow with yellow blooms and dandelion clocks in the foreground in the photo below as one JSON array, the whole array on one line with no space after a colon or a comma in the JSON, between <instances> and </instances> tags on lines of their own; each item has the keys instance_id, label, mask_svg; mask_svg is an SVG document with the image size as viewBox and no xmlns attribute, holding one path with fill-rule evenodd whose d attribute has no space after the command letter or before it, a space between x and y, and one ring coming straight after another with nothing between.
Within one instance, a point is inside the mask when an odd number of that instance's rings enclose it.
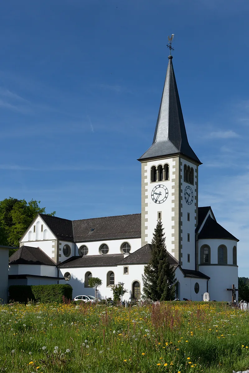
<instances>
[{"instance_id":1,"label":"wildflower meadow with yellow blooms and dandelion clocks in the foreground","mask_svg":"<svg viewBox=\"0 0 249 373\"><path fill-rule=\"evenodd\" d=\"M224 372L249 367L249 312L218 303L0 307L0 372Z\"/></svg>"}]
</instances>

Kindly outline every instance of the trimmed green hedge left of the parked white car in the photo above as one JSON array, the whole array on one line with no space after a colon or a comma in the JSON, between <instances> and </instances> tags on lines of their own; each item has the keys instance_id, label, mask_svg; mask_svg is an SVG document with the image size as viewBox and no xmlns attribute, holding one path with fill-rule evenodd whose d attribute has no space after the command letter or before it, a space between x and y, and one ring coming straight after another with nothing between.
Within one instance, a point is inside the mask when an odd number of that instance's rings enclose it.
<instances>
[{"instance_id":1,"label":"trimmed green hedge left of the parked white car","mask_svg":"<svg viewBox=\"0 0 249 373\"><path fill-rule=\"evenodd\" d=\"M63 297L64 300L72 300L72 291L72 286L68 284L10 285L9 300L19 303L63 303Z\"/></svg>"}]
</instances>

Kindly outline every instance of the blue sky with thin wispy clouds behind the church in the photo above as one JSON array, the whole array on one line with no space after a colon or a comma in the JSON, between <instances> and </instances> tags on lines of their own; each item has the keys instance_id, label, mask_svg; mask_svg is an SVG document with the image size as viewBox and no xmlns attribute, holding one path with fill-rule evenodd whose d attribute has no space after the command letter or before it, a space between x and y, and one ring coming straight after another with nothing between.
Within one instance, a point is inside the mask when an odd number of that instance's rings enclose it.
<instances>
[{"instance_id":1,"label":"blue sky with thin wispy clouds behind the church","mask_svg":"<svg viewBox=\"0 0 249 373\"><path fill-rule=\"evenodd\" d=\"M247 0L0 4L0 200L67 219L140 212L140 163L173 64L199 206L240 239L249 276Z\"/></svg>"}]
</instances>

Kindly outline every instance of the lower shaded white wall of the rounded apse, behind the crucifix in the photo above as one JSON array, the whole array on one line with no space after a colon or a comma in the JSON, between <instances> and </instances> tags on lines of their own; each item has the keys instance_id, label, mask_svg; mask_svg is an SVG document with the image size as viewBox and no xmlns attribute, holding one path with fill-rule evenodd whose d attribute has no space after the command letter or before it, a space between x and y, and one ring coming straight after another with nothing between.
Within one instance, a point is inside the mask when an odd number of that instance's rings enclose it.
<instances>
[{"instance_id":1,"label":"lower shaded white wall of the rounded apse, behind the crucifix","mask_svg":"<svg viewBox=\"0 0 249 373\"><path fill-rule=\"evenodd\" d=\"M232 300L231 289L233 284L238 288L238 267L235 266L200 266L200 271L210 277L208 280L208 292L210 300L226 301ZM238 292L236 291L236 300Z\"/></svg>"}]
</instances>

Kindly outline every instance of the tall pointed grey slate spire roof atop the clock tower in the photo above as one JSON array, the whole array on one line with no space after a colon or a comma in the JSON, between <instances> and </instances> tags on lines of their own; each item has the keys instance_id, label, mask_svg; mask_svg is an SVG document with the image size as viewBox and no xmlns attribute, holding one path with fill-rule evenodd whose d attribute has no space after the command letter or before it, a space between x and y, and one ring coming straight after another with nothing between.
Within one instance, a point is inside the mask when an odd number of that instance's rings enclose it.
<instances>
[{"instance_id":1,"label":"tall pointed grey slate spire roof atop the clock tower","mask_svg":"<svg viewBox=\"0 0 249 373\"><path fill-rule=\"evenodd\" d=\"M168 69L153 143L139 160L181 153L201 164L187 139L172 58L172 56L168 57Z\"/></svg>"}]
</instances>

